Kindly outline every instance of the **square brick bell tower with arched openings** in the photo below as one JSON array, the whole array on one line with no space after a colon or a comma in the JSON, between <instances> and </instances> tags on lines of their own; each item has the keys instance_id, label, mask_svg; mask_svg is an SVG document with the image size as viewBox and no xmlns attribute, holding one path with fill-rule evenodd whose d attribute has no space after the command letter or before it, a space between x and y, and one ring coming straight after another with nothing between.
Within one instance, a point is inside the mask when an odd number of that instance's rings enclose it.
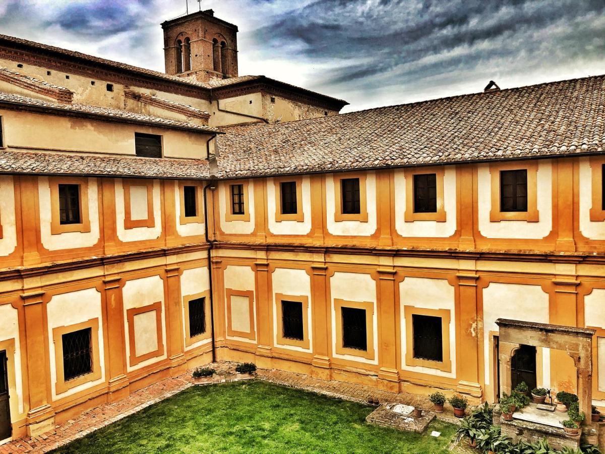
<instances>
[{"instance_id":1,"label":"square brick bell tower with arched openings","mask_svg":"<svg viewBox=\"0 0 605 454\"><path fill-rule=\"evenodd\" d=\"M237 77L237 25L205 10L163 22L166 73L200 82Z\"/></svg>"}]
</instances>

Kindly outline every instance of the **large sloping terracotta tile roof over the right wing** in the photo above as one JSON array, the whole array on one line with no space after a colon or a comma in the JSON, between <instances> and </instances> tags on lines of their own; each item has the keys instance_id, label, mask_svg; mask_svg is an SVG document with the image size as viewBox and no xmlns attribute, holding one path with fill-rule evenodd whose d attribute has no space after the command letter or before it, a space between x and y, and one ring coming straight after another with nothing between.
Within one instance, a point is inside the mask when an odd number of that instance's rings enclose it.
<instances>
[{"instance_id":1,"label":"large sloping terracotta tile roof over the right wing","mask_svg":"<svg viewBox=\"0 0 605 454\"><path fill-rule=\"evenodd\" d=\"M598 153L605 75L223 131L219 177Z\"/></svg>"}]
</instances>

